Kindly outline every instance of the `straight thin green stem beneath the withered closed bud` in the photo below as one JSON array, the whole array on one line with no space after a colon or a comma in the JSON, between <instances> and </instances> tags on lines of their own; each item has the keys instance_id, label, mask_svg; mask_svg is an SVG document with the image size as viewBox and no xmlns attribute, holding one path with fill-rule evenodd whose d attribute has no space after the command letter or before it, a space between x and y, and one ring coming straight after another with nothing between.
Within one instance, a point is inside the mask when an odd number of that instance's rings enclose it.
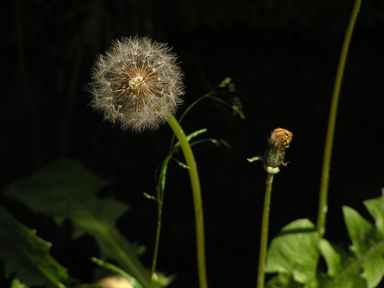
<instances>
[{"instance_id":1,"label":"straight thin green stem beneath the withered closed bud","mask_svg":"<svg viewBox=\"0 0 384 288\"><path fill-rule=\"evenodd\" d=\"M264 288L264 270L265 270L265 259L267 256L267 242L268 242L269 205L271 203L273 181L274 181L274 174L268 173L267 184L265 185L263 221L261 223L259 272L257 274L257 288Z\"/></svg>"}]
</instances>

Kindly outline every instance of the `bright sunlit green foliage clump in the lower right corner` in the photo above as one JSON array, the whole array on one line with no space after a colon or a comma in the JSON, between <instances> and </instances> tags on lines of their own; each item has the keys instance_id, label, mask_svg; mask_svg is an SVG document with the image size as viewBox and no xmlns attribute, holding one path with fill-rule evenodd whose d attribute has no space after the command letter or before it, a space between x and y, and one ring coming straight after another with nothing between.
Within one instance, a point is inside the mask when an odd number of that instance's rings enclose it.
<instances>
[{"instance_id":1,"label":"bright sunlit green foliage clump in the lower right corner","mask_svg":"<svg viewBox=\"0 0 384 288\"><path fill-rule=\"evenodd\" d=\"M384 276L384 189L381 197L364 205L374 224L343 206L352 243L348 251L326 239L319 241L308 219L285 226L269 247L266 272L277 274L267 287L377 287ZM317 272L317 253L324 257L326 273Z\"/></svg>"}]
</instances>

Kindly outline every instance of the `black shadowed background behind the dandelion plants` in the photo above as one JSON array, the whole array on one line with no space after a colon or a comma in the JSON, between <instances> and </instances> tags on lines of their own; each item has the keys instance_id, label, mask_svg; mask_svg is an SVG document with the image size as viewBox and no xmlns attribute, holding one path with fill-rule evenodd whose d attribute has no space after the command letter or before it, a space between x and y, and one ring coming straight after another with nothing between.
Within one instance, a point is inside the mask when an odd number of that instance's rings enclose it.
<instances>
[{"instance_id":1,"label":"black shadowed background behind the dandelion plants","mask_svg":"<svg viewBox=\"0 0 384 288\"><path fill-rule=\"evenodd\" d=\"M208 282L253 287L265 171L245 159L262 154L277 127L293 132L289 165L275 177L272 238L298 218L315 222L328 110L353 1L21 1L3 3L1 21L1 187L62 157L112 181L109 192L130 204L119 221L147 246L156 225L154 170L171 130L132 134L102 121L84 86L98 53L121 36L169 43L185 72L182 110L230 76L245 120L207 100L183 121L191 133L226 139L231 149L194 147L202 181ZM363 1L341 89L333 149L326 237L348 245L341 205L367 215L363 200L383 181L384 2ZM182 159L181 156L179 156ZM186 171L169 167L158 269L177 274L172 287L197 287L191 190ZM40 221L25 219L54 240ZM57 236L57 235L56 235ZM53 246L72 276L92 280L91 239L71 243L75 258ZM91 247L84 250L84 247ZM93 248L92 248L93 247Z\"/></svg>"}]
</instances>

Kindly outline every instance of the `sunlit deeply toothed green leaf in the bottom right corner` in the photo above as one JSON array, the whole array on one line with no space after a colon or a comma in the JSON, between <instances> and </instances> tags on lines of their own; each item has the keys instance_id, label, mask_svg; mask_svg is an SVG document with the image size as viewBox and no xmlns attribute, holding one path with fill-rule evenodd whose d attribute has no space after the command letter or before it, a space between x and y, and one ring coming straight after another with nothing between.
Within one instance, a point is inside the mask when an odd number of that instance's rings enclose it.
<instances>
[{"instance_id":1,"label":"sunlit deeply toothed green leaf in the bottom right corner","mask_svg":"<svg viewBox=\"0 0 384 288\"><path fill-rule=\"evenodd\" d=\"M355 209L343 206L348 235L352 241L350 253L336 250L326 240L320 250L328 265L328 276L322 287L377 287L384 276L384 239L380 231L383 221L384 197L364 202L376 225L364 219ZM351 253L352 252L352 253Z\"/></svg>"}]
</instances>

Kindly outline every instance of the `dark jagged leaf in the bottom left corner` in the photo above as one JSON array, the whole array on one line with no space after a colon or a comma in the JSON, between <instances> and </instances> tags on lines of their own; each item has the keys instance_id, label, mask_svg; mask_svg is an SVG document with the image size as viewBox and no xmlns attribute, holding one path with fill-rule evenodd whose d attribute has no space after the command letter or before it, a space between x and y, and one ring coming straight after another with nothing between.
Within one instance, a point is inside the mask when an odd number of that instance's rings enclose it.
<instances>
[{"instance_id":1,"label":"dark jagged leaf in the bottom left corner","mask_svg":"<svg viewBox=\"0 0 384 288\"><path fill-rule=\"evenodd\" d=\"M0 259L8 276L16 272L12 287L48 285L65 287L67 269L49 254L51 243L44 241L0 206ZM21 282L20 282L20 281Z\"/></svg>"}]
</instances>

